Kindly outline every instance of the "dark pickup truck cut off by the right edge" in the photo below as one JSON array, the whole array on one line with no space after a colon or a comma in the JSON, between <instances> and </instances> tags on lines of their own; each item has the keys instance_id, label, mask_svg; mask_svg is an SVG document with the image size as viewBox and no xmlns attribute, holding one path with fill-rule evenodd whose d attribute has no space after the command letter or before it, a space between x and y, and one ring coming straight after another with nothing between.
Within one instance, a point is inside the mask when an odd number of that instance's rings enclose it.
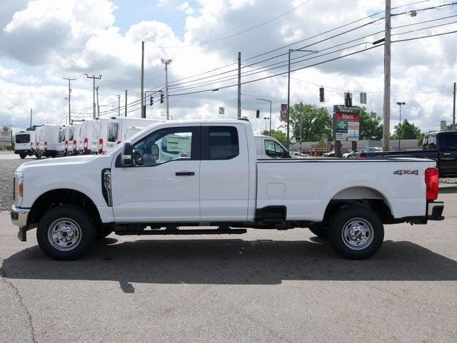
<instances>
[{"instance_id":1,"label":"dark pickup truck cut off by the right edge","mask_svg":"<svg viewBox=\"0 0 457 343\"><path fill-rule=\"evenodd\" d=\"M359 158L428 158L436 160L440 178L457 178L457 131L428 133L422 142L422 150L361 153Z\"/></svg>"}]
</instances>

